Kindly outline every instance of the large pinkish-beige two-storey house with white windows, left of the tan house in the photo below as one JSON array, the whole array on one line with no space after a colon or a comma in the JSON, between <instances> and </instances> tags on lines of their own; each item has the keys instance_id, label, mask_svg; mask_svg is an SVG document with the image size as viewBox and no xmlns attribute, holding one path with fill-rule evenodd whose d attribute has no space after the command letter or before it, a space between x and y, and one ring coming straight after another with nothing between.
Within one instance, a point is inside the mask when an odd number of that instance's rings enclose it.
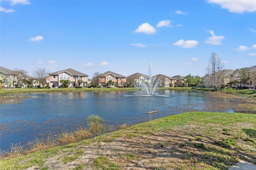
<instances>
[{"instance_id":1,"label":"large pinkish-beige two-storey house with white windows, left of the tan house","mask_svg":"<svg viewBox=\"0 0 256 170\"><path fill-rule=\"evenodd\" d=\"M88 75L74 69L64 69L49 73L46 83L50 87L59 87L61 85L60 80L70 80L69 87L78 86L78 80L82 80L80 86L86 87L88 85Z\"/></svg>"}]
</instances>

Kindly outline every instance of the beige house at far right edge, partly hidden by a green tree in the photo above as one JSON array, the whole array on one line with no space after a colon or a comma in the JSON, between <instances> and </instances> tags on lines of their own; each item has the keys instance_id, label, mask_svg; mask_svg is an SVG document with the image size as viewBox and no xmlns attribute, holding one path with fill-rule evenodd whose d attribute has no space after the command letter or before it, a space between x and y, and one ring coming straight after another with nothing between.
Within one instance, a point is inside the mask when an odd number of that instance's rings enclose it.
<instances>
[{"instance_id":1,"label":"beige house at far right edge, partly hidden by a green tree","mask_svg":"<svg viewBox=\"0 0 256 170\"><path fill-rule=\"evenodd\" d=\"M248 84L246 84L246 87L256 87L256 65L252 66L252 67L248 67L249 73L248 75L250 76L250 80L248 81ZM239 73L240 73L240 69L236 69L235 71L233 71L232 73L229 74L229 79L231 82L236 82L234 84L234 87L239 87L242 86L242 83L240 81L240 77L239 77Z\"/></svg>"}]
</instances>

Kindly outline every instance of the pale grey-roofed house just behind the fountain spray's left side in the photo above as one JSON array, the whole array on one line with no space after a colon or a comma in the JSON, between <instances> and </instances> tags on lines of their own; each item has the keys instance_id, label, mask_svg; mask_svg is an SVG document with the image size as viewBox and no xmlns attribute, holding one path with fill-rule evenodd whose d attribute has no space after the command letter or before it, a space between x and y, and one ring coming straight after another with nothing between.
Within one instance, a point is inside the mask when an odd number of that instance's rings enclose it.
<instances>
[{"instance_id":1,"label":"pale grey-roofed house just behind the fountain spray's left side","mask_svg":"<svg viewBox=\"0 0 256 170\"><path fill-rule=\"evenodd\" d=\"M150 84L150 77L142 73L134 73L127 77L126 82L130 87L143 87L144 83Z\"/></svg>"}]
</instances>

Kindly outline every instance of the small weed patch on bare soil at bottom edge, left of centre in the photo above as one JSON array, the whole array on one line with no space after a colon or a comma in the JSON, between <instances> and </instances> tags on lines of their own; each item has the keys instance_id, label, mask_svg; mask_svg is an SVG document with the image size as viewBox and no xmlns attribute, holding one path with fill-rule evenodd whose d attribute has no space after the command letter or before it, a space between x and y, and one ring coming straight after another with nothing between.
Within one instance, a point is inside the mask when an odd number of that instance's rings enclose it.
<instances>
[{"instance_id":1,"label":"small weed patch on bare soil at bottom edge, left of centre","mask_svg":"<svg viewBox=\"0 0 256 170\"><path fill-rule=\"evenodd\" d=\"M103 169L103 170L119 170L119 164L112 163L108 157L99 156L92 163L92 168Z\"/></svg>"}]
</instances>

